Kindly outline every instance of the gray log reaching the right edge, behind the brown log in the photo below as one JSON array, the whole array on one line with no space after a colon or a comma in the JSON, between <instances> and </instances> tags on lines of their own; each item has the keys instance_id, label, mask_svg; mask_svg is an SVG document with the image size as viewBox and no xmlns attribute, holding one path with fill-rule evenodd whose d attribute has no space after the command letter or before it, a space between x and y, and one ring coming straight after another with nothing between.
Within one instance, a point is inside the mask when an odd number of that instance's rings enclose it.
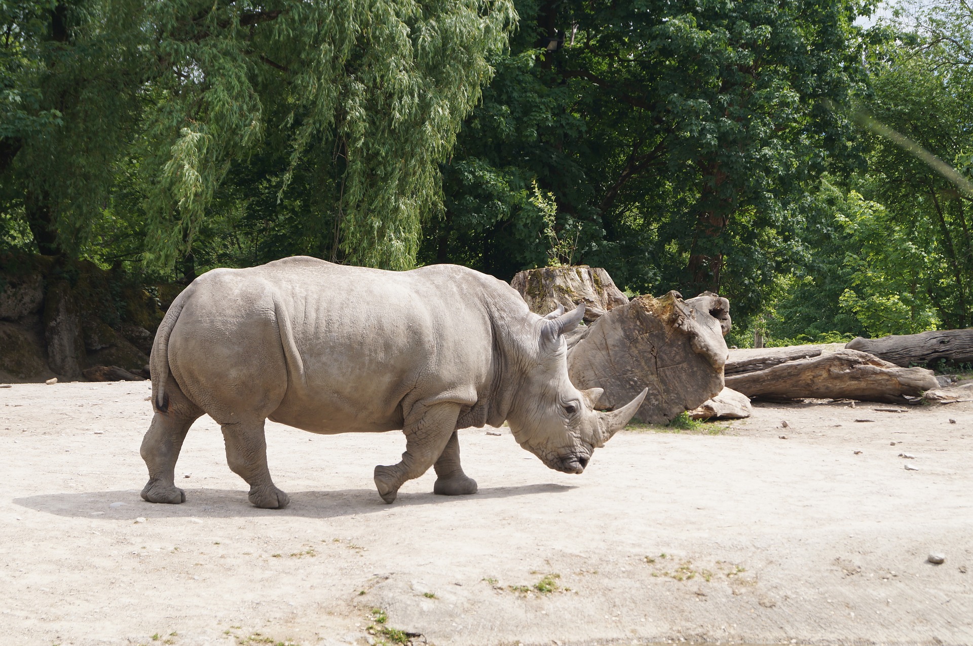
<instances>
[{"instance_id":1,"label":"gray log reaching the right edge, behind the brown log","mask_svg":"<svg viewBox=\"0 0 973 646\"><path fill-rule=\"evenodd\" d=\"M882 339L858 337L848 341L848 349L874 354L896 366L929 364L945 359L951 363L973 361L973 328L939 330L918 335L891 335Z\"/></svg>"}]
</instances>

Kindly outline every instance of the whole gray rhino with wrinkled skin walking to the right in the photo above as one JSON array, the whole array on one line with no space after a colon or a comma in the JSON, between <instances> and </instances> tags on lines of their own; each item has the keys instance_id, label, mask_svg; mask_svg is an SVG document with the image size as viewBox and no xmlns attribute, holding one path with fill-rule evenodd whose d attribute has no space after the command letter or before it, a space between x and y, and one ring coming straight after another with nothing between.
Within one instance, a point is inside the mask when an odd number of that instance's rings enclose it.
<instances>
[{"instance_id":1,"label":"whole gray rhino with wrinkled skin walking to the right","mask_svg":"<svg viewBox=\"0 0 973 646\"><path fill-rule=\"evenodd\" d=\"M152 348L142 497L186 499L175 463L203 413L257 507L288 502L267 468L268 418L323 434L402 429L402 461L375 468L387 503L429 467L436 493L475 493L456 429L504 420L544 464L581 473L645 395L599 413L601 390L571 385L562 334L583 315L579 305L542 318L506 283L451 265L397 272L296 257L209 271L169 307Z\"/></svg>"}]
</instances>

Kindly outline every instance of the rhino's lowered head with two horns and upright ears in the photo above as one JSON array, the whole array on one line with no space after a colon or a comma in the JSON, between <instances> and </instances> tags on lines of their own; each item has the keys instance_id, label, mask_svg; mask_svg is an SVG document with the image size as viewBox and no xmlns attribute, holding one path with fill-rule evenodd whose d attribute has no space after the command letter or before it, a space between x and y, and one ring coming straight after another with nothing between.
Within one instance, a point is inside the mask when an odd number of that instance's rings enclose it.
<instances>
[{"instance_id":1,"label":"rhino's lowered head with two horns and upright ears","mask_svg":"<svg viewBox=\"0 0 973 646\"><path fill-rule=\"evenodd\" d=\"M508 414L510 430L524 449L551 469L578 474L592 452L629 423L648 389L621 409L595 411L601 388L578 390L567 377L567 343L585 315L585 305L564 313L563 308L536 322L536 355L525 360L523 382Z\"/></svg>"}]
</instances>

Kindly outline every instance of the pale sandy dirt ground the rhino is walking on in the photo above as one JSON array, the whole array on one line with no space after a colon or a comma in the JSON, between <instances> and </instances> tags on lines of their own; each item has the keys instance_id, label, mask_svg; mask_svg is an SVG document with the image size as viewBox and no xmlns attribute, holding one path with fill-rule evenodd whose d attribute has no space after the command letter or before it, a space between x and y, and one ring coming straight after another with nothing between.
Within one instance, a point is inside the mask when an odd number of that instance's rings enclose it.
<instances>
[{"instance_id":1,"label":"pale sandy dirt ground the rhino is walking on","mask_svg":"<svg viewBox=\"0 0 973 646\"><path fill-rule=\"evenodd\" d=\"M269 424L276 511L208 417L187 501L143 502L148 394L0 389L3 643L973 643L971 404L759 405L619 433L580 476L469 429L478 494L434 496L430 471L392 505L372 470L401 433Z\"/></svg>"}]
</instances>

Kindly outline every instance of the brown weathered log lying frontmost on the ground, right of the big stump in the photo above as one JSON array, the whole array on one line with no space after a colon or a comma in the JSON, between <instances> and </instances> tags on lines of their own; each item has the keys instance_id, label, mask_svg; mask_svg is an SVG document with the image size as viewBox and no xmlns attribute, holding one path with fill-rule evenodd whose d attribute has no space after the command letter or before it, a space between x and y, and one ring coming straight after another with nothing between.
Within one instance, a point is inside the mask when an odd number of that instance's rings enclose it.
<instances>
[{"instance_id":1,"label":"brown weathered log lying frontmost on the ground, right of the big stump","mask_svg":"<svg viewBox=\"0 0 973 646\"><path fill-rule=\"evenodd\" d=\"M865 352L839 350L796 359L766 370L726 377L726 385L748 397L770 400L857 399L906 404L939 387L931 370L900 368Z\"/></svg>"}]
</instances>

